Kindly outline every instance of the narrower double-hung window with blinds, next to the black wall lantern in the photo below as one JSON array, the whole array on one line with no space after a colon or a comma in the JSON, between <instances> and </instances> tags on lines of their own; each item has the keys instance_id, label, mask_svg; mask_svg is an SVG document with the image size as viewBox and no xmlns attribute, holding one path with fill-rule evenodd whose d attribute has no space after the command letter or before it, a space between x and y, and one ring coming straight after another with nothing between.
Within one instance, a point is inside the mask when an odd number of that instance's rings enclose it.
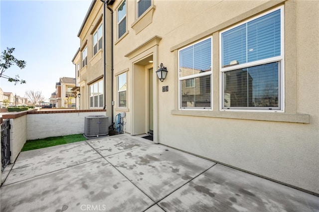
<instances>
[{"instance_id":1,"label":"narrower double-hung window with blinds, next to the black wall lantern","mask_svg":"<svg viewBox=\"0 0 319 212\"><path fill-rule=\"evenodd\" d=\"M179 108L211 108L212 39L178 51Z\"/></svg>"}]
</instances>

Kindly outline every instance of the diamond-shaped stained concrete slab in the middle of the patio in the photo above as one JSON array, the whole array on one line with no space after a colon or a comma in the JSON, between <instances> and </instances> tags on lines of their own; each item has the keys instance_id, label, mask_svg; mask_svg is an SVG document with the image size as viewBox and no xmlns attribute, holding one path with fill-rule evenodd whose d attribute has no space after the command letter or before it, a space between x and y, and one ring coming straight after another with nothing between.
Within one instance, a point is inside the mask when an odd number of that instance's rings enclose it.
<instances>
[{"instance_id":1,"label":"diamond-shaped stained concrete slab in the middle of the patio","mask_svg":"<svg viewBox=\"0 0 319 212\"><path fill-rule=\"evenodd\" d=\"M158 202L215 163L163 145L148 145L106 159Z\"/></svg>"}]
</instances>

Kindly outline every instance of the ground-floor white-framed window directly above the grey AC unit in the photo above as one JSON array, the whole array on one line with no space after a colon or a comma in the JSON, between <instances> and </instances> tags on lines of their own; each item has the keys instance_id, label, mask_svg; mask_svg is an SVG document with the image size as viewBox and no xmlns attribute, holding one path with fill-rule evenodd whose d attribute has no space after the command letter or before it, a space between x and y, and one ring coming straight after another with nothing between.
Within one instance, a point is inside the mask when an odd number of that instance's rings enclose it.
<instances>
[{"instance_id":1,"label":"ground-floor white-framed window directly above the grey AC unit","mask_svg":"<svg viewBox=\"0 0 319 212\"><path fill-rule=\"evenodd\" d=\"M90 89L90 107L103 107L103 80L93 83Z\"/></svg>"}]
</instances>

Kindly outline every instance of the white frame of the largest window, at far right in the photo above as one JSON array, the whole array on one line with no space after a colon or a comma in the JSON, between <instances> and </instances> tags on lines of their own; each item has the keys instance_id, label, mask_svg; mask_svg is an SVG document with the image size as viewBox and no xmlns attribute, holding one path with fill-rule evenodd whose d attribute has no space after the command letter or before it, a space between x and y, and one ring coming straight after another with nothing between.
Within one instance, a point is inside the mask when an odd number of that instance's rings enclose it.
<instances>
[{"instance_id":1,"label":"white frame of the largest window, at far right","mask_svg":"<svg viewBox=\"0 0 319 212\"><path fill-rule=\"evenodd\" d=\"M267 59L262 59L262 60L257 60L257 61L253 61L253 62L248 62L248 63L244 63L244 64L238 64L238 65L232 65L232 66L227 66L227 67L224 67L223 68L223 64L222 64L222 33L223 32L226 32L226 31L229 31L237 26L240 26L242 24L245 24L247 22L250 22L252 20L255 20L259 17L262 17L264 15L267 15L273 11L276 11L280 9L280 21L281 21L281 53L280 53L280 56L276 56L276 57L271 57L271 58L267 58ZM284 98L284 95L285 95L285 82L284 82L284 79L285 79L285 76L284 76L284 61L285 61L285 58L284 58L284 39L285 39L285 36L284 36L284 6L279 6L279 7L276 7L274 9L271 9L271 10L268 10L260 15L256 15L250 19L247 19L245 21L242 21L232 27L229 27L223 31L220 31L219 32L219 70L220 70L220 88L219 88L219 97L220 97L220 100L219 100L219 109L222 110L222 111L250 111L250 112L284 112L284 108L285 108L285 98ZM234 71L234 70L238 70L238 69L242 69L242 68L249 68L249 67L253 67L253 66L258 66L258 65L263 65L263 64L267 64L267 63L272 63L272 62L280 62L280 65L279 65L279 78L278 78L278 81L279 81L279 89L281 90L281 92L279 93L279 96L278 97L278 101L280 101L279 103L279 109L269 109L269 108L264 108L264 107L256 107L256 109L253 109L251 107L248 107L247 106L247 109L245 108L225 108L223 107L224 105L224 96L223 96L223 88L224 88L224 78L223 78L223 73L224 72L227 72L227 71Z\"/></svg>"}]
</instances>

